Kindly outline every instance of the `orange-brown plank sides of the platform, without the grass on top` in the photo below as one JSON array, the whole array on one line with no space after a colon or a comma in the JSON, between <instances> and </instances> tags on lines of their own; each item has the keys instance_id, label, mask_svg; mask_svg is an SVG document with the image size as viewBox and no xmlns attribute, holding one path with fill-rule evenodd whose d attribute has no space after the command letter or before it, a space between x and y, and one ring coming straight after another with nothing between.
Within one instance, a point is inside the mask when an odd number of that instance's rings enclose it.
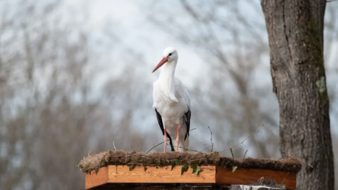
<instances>
[{"instance_id":1,"label":"orange-brown plank sides of the platform, without the grass on top","mask_svg":"<svg viewBox=\"0 0 338 190\"><path fill-rule=\"evenodd\" d=\"M257 182L261 177L276 180L277 183L284 183L288 189L296 188L296 174L286 171L274 171L263 169L222 169L219 166L201 166L202 171L197 175L192 173L192 168L181 175L183 166L175 166L171 170L168 167L135 166L129 170L129 166L108 165L85 174L86 189L116 189L117 187L138 184L193 184L198 186L212 185L249 185L250 182ZM121 189L121 188L120 188Z\"/></svg>"}]
</instances>

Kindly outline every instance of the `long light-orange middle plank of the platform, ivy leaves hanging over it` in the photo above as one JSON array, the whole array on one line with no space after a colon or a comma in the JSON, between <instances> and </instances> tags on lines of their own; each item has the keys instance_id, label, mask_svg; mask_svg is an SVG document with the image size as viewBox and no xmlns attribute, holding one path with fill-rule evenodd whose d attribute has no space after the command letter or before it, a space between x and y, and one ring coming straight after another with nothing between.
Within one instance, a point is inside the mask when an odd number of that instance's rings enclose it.
<instances>
[{"instance_id":1,"label":"long light-orange middle plank of the platform, ivy leaves hanging over it","mask_svg":"<svg viewBox=\"0 0 338 190\"><path fill-rule=\"evenodd\" d=\"M169 167L108 166L108 182L110 183L215 183L215 166L202 166L202 172L195 175L192 168L181 175L183 166Z\"/></svg>"}]
</instances>

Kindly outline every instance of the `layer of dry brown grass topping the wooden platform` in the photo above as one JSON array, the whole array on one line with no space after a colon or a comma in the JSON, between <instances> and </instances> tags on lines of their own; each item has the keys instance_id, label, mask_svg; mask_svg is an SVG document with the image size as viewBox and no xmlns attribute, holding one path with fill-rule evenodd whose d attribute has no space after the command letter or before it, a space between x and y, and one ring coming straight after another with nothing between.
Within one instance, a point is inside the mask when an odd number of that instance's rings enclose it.
<instances>
[{"instance_id":1,"label":"layer of dry brown grass topping the wooden platform","mask_svg":"<svg viewBox=\"0 0 338 190\"><path fill-rule=\"evenodd\" d=\"M176 163L175 163L176 162ZM214 153L144 153L125 151L106 151L95 155L89 155L80 161L79 167L84 173L107 165L135 165L135 166L169 166L169 165L215 165L231 169L233 166L245 169L269 169L297 173L301 169L301 161L298 158L288 159L233 159L222 157Z\"/></svg>"}]
</instances>

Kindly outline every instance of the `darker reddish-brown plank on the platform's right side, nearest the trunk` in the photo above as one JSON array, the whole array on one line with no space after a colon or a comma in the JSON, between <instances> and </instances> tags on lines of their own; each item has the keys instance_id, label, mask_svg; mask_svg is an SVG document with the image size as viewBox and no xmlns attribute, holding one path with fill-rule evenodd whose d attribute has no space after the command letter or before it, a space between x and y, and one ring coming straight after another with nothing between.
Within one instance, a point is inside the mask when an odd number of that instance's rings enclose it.
<instances>
[{"instance_id":1,"label":"darker reddish-brown plank on the platform's right side, nearest the trunk","mask_svg":"<svg viewBox=\"0 0 338 190\"><path fill-rule=\"evenodd\" d=\"M284 183L286 188L296 189L296 174L285 171L273 171L266 169L222 169L216 166L217 184L249 185L250 182L257 182L261 177L276 180L277 183Z\"/></svg>"}]
</instances>

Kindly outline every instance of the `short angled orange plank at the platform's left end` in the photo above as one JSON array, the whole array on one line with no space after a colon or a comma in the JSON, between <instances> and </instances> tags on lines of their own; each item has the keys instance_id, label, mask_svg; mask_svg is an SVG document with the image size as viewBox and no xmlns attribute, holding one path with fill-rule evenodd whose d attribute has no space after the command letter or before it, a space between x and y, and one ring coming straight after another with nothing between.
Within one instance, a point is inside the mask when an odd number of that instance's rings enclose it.
<instances>
[{"instance_id":1,"label":"short angled orange plank at the platform's left end","mask_svg":"<svg viewBox=\"0 0 338 190\"><path fill-rule=\"evenodd\" d=\"M97 187L108 182L108 167L99 168L98 173L91 171L91 174L85 175L86 189Z\"/></svg>"}]
</instances>

